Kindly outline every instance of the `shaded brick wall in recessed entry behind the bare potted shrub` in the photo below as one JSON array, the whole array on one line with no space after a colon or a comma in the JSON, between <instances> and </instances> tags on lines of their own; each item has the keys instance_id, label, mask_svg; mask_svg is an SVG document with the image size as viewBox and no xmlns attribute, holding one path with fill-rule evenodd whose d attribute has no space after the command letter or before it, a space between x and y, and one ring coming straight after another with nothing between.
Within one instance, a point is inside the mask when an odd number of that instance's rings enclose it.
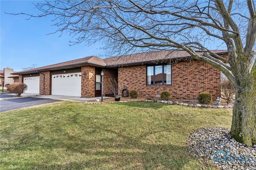
<instances>
[{"instance_id":1,"label":"shaded brick wall in recessed entry behind the bare potted shrub","mask_svg":"<svg viewBox=\"0 0 256 170\"><path fill-rule=\"evenodd\" d=\"M102 69L104 76L103 76L103 96L106 94L112 94L113 92L108 87L107 82L110 77L118 77L118 69ZM118 94L118 95L121 95Z\"/></svg>"}]
</instances>

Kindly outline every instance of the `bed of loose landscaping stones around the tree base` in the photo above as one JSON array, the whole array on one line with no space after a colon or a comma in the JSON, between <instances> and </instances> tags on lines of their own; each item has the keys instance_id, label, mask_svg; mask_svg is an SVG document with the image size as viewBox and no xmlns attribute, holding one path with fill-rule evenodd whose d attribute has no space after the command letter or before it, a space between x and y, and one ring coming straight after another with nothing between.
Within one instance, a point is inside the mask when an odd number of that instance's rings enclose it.
<instances>
[{"instance_id":1,"label":"bed of loose landscaping stones around the tree base","mask_svg":"<svg viewBox=\"0 0 256 170\"><path fill-rule=\"evenodd\" d=\"M229 132L228 128L200 128L188 137L188 151L212 161L216 168L256 170L256 145L248 147L236 142Z\"/></svg>"}]
</instances>

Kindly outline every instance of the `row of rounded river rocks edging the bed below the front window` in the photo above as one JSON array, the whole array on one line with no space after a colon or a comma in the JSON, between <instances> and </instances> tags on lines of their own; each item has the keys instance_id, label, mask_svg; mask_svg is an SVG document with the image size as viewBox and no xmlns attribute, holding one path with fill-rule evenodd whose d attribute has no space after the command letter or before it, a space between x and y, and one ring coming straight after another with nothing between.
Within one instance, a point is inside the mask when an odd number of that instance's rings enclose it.
<instances>
[{"instance_id":1,"label":"row of rounded river rocks edging the bed below the front window","mask_svg":"<svg viewBox=\"0 0 256 170\"><path fill-rule=\"evenodd\" d=\"M188 107L203 107L203 108L213 108L213 109L232 109L232 105L228 106L215 106L215 105L200 105L200 104L187 104L187 103L179 103L178 101L163 101L163 100L146 100L146 102L157 102L164 103L168 105L180 105L180 106L188 106Z\"/></svg>"}]
</instances>

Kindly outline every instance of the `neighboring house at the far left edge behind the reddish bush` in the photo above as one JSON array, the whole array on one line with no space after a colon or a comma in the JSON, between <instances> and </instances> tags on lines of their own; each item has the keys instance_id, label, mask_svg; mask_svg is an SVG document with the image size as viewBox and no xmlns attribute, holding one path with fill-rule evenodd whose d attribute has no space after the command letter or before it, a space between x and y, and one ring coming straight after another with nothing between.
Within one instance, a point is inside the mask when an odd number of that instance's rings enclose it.
<instances>
[{"instance_id":1,"label":"neighboring house at the far left edge behind the reddish bush","mask_svg":"<svg viewBox=\"0 0 256 170\"><path fill-rule=\"evenodd\" d=\"M15 71L13 71L13 69L10 69L10 67L4 68L4 70L0 70L1 86L2 86L3 80L4 80L4 85L18 82L18 75L12 75L13 73L15 73Z\"/></svg>"}]
</instances>

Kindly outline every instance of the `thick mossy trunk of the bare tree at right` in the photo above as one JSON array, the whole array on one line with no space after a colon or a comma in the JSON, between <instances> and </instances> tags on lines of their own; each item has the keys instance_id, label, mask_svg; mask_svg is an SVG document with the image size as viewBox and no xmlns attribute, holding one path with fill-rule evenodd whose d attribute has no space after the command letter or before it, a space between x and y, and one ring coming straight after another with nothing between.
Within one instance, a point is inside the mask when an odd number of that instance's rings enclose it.
<instances>
[{"instance_id":1,"label":"thick mossy trunk of the bare tree at right","mask_svg":"<svg viewBox=\"0 0 256 170\"><path fill-rule=\"evenodd\" d=\"M256 144L256 80L247 79L243 87L236 89L231 136L247 146Z\"/></svg>"}]
</instances>

